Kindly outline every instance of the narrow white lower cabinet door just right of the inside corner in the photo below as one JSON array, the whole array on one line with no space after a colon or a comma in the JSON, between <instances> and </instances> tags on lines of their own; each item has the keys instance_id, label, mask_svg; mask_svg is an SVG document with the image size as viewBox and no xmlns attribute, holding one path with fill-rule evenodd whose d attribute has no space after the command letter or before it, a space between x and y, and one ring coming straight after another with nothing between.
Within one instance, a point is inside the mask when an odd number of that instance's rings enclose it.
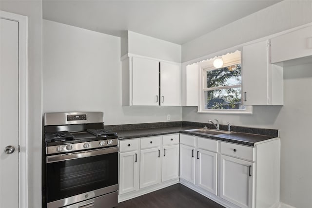
<instances>
[{"instance_id":1,"label":"narrow white lower cabinet door just right of the inside corner","mask_svg":"<svg viewBox=\"0 0 312 208\"><path fill-rule=\"evenodd\" d=\"M180 178L195 184L195 148L180 145Z\"/></svg>"}]
</instances>

